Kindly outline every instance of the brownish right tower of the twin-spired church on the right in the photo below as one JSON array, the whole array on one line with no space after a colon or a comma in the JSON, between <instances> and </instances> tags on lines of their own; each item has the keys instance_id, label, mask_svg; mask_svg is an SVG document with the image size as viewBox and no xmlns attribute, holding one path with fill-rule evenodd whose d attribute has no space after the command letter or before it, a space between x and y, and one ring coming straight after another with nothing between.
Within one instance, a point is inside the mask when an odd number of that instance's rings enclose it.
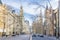
<instances>
[{"instance_id":1,"label":"brownish right tower of the twin-spired church on the right","mask_svg":"<svg viewBox=\"0 0 60 40\"><path fill-rule=\"evenodd\" d=\"M54 35L54 14L53 14L53 9L52 9L52 6L50 6L50 10L49 10L49 20L50 20L50 27L49 27L49 34L51 35L51 36L53 36Z\"/></svg>"}]
</instances>

